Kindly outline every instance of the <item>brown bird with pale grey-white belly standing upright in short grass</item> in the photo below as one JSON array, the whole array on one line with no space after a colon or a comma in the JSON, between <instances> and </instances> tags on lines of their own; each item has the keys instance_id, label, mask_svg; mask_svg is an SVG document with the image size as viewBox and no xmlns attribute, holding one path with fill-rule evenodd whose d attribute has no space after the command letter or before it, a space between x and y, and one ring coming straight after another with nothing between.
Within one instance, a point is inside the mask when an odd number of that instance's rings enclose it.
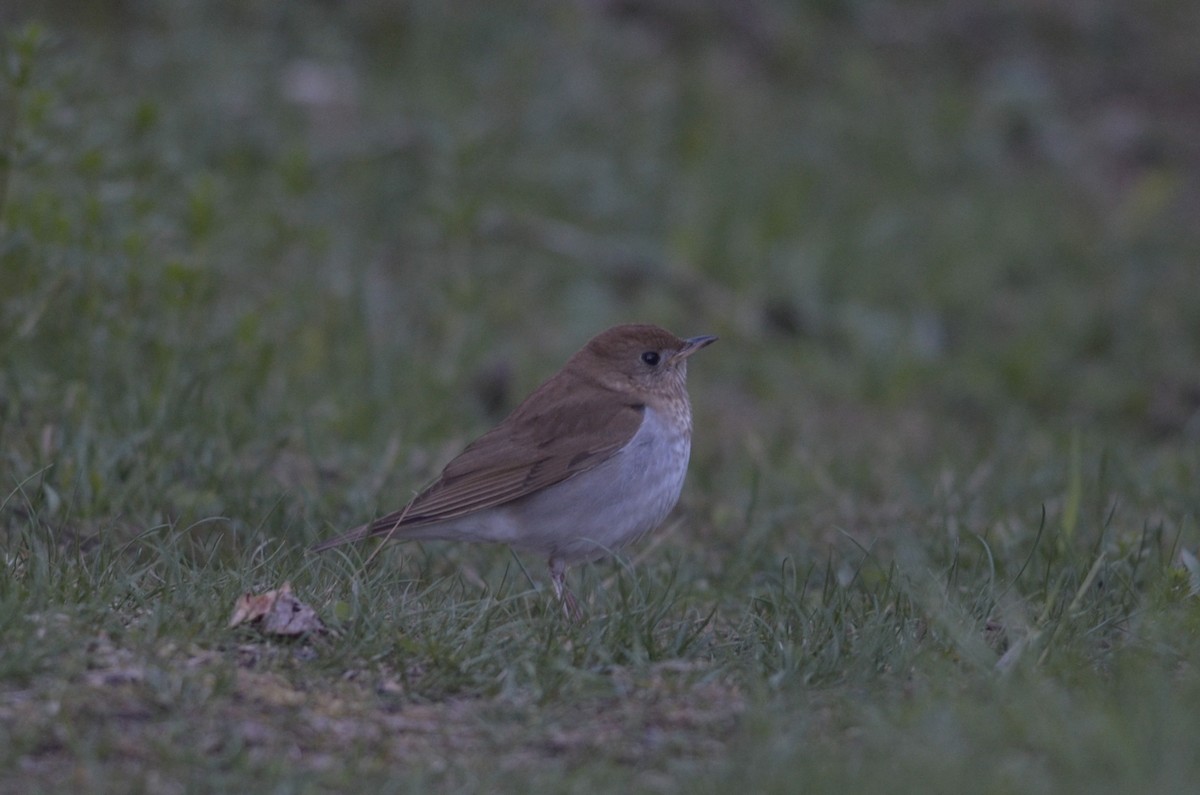
<instances>
[{"instance_id":1,"label":"brown bird with pale grey-white belly standing upright in short grass","mask_svg":"<svg viewBox=\"0 0 1200 795\"><path fill-rule=\"evenodd\" d=\"M547 557L554 593L578 616L568 564L637 540L679 500L688 357L715 340L655 325L601 331L412 502L313 551L374 536L510 544Z\"/></svg>"}]
</instances>

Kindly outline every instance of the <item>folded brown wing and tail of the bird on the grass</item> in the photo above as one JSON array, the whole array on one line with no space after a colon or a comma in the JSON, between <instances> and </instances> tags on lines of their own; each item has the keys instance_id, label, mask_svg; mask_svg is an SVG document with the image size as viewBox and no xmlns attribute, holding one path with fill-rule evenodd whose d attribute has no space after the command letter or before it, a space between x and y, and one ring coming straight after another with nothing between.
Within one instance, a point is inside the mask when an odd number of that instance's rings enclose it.
<instances>
[{"instance_id":1,"label":"folded brown wing and tail of the bird on the grass","mask_svg":"<svg viewBox=\"0 0 1200 795\"><path fill-rule=\"evenodd\" d=\"M587 472L625 447L642 425L644 406L608 391L568 393L545 410L536 394L472 442L408 506L313 550L503 506Z\"/></svg>"}]
</instances>

